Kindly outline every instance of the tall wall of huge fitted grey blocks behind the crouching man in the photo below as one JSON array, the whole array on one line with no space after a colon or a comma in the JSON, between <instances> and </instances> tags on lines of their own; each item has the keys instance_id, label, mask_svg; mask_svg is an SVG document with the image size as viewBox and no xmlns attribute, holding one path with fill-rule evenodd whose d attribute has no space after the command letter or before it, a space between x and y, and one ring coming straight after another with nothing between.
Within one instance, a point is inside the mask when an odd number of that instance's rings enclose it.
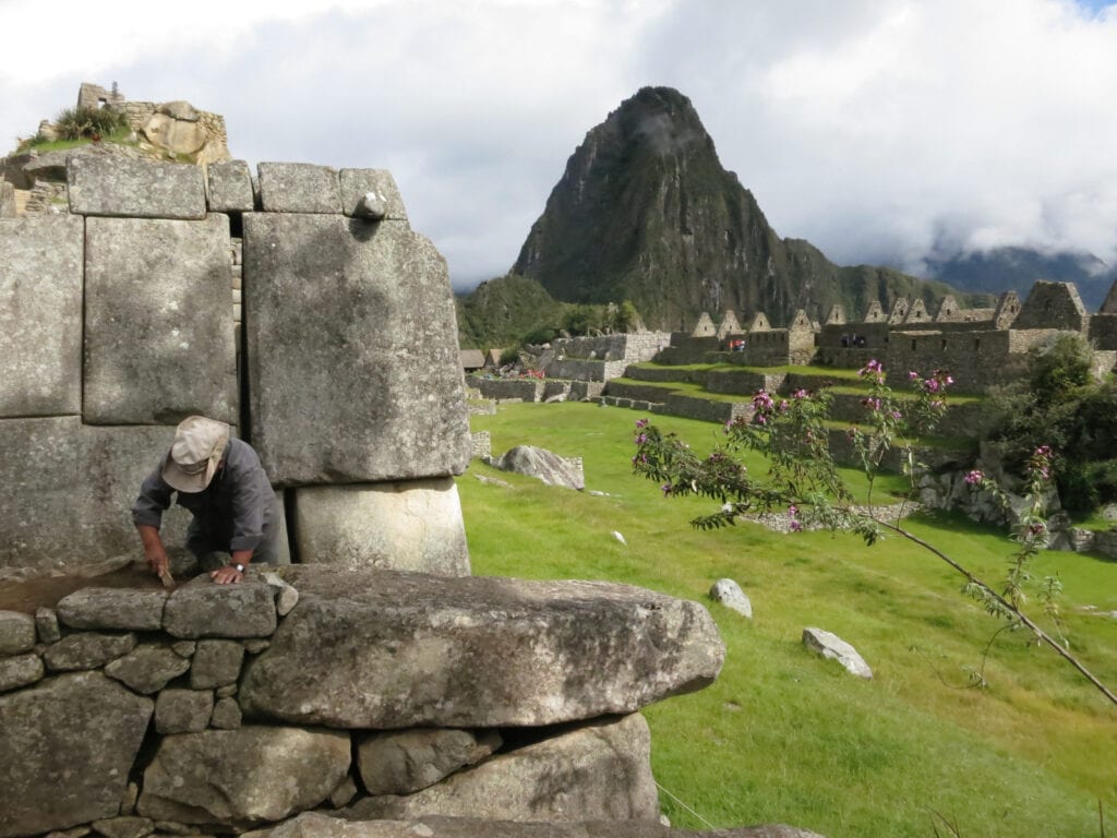
<instances>
[{"instance_id":1,"label":"tall wall of huge fitted grey blocks behind the crouching man","mask_svg":"<svg viewBox=\"0 0 1117 838\"><path fill-rule=\"evenodd\" d=\"M67 215L0 219L0 578L140 558L131 505L190 413L237 426L259 451L299 517L297 559L468 573L452 294L388 172L261 163L260 211L242 162L203 179L192 165L71 155L67 178ZM354 217L369 192L380 220ZM437 511L441 532L394 527L385 543L350 526L403 507ZM454 545L439 551L451 564L427 563L431 539Z\"/></svg>"}]
</instances>

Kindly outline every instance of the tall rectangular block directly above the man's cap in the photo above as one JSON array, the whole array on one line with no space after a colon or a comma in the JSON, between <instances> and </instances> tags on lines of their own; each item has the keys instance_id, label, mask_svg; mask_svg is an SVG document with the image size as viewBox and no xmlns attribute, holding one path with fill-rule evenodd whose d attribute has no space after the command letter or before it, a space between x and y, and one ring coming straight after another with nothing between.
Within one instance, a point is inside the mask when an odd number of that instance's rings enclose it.
<instances>
[{"instance_id":1,"label":"tall rectangular block directly above the man's cap","mask_svg":"<svg viewBox=\"0 0 1117 838\"><path fill-rule=\"evenodd\" d=\"M237 423L229 223L86 222L85 421Z\"/></svg>"}]
</instances>

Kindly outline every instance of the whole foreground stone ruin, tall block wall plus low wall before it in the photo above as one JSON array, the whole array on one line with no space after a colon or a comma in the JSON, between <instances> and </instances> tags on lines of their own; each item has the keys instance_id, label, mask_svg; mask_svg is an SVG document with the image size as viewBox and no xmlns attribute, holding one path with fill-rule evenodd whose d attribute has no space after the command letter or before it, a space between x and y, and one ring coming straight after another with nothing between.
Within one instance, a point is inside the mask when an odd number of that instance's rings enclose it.
<instances>
[{"instance_id":1,"label":"whole foreground stone ruin, tall block wall plus low wall before it","mask_svg":"<svg viewBox=\"0 0 1117 838\"><path fill-rule=\"evenodd\" d=\"M290 564L0 611L0 838L680 835L639 711L716 677L716 626L470 575L452 295L391 175L74 154L66 183L0 219L0 585L140 559L190 413L259 451Z\"/></svg>"}]
</instances>

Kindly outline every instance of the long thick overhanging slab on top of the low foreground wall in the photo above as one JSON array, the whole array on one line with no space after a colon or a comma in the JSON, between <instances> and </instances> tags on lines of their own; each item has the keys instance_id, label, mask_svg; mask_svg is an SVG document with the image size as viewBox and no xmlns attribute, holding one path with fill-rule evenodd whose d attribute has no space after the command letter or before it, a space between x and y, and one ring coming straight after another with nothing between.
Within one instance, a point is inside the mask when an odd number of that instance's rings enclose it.
<instances>
[{"instance_id":1,"label":"long thick overhanging slab on top of the low foreground wall","mask_svg":"<svg viewBox=\"0 0 1117 838\"><path fill-rule=\"evenodd\" d=\"M725 654L700 604L629 585L309 564L285 577L298 608L246 665L247 715L374 730L554 724L698 689Z\"/></svg>"}]
</instances>

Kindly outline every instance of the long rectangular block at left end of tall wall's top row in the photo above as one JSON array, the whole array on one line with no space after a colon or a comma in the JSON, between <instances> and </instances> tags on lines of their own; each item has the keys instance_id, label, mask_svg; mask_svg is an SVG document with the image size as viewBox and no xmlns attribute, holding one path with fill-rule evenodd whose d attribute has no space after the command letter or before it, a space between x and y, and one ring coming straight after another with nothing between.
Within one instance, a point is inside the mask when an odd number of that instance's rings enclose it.
<instances>
[{"instance_id":1,"label":"long rectangular block at left end of tall wall's top row","mask_svg":"<svg viewBox=\"0 0 1117 838\"><path fill-rule=\"evenodd\" d=\"M123 218L206 218L202 170L95 154L71 154L67 164L70 212Z\"/></svg>"}]
</instances>

